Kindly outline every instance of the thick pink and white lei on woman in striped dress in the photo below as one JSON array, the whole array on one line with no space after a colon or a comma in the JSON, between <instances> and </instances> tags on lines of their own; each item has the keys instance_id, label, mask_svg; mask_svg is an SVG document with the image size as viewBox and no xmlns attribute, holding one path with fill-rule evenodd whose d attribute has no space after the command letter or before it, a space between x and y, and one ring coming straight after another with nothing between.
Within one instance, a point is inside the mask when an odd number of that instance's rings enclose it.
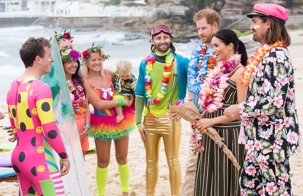
<instances>
[{"instance_id":1,"label":"thick pink and white lei on woman in striped dress","mask_svg":"<svg viewBox=\"0 0 303 196\"><path fill-rule=\"evenodd\" d=\"M238 52L223 62L219 62L212 70L207 71L204 83L201 85L199 95L199 105L202 110L208 113L222 108L224 100L224 90L228 87L227 81L230 72L237 67L241 61Z\"/></svg>"}]
</instances>

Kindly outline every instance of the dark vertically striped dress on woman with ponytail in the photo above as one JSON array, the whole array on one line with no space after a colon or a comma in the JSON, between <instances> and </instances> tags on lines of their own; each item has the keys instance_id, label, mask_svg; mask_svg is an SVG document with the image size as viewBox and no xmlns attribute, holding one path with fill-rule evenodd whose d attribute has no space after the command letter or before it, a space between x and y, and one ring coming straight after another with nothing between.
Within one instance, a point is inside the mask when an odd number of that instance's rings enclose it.
<instances>
[{"instance_id":1,"label":"dark vertically striped dress on woman with ponytail","mask_svg":"<svg viewBox=\"0 0 303 196\"><path fill-rule=\"evenodd\" d=\"M215 118L224 115L224 109L230 105L238 104L237 88L233 81L227 81L228 88L225 89L225 100L223 107L214 113L207 113L205 118ZM241 119L213 125L219 135L225 139L224 143L231 150L238 164L242 168L245 160L245 146L238 144ZM215 144L204 134L203 144L205 150L198 155L195 196L240 196L238 179L241 170L233 166L220 146Z\"/></svg>"}]
</instances>

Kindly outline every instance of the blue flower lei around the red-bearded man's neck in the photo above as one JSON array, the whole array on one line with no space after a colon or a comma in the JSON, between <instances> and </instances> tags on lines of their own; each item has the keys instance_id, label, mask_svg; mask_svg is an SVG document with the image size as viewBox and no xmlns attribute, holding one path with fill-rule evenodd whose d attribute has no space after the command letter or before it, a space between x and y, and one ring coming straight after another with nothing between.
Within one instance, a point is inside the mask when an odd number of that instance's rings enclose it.
<instances>
[{"instance_id":1,"label":"blue flower lei around the red-bearded man's neck","mask_svg":"<svg viewBox=\"0 0 303 196\"><path fill-rule=\"evenodd\" d=\"M203 84L203 80L201 78L204 78L207 73L208 58L210 56L214 57L214 53L211 52L212 48L207 48L206 53L203 56L203 60L201 61L200 51L204 47L205 44L200 40L191 53L191 61L188 65L187 88L188 91L194 94L199 94L201 90L200 86ZM197 67L198 63L201 63L200 68Z\"/></svg>"}]
</instances>

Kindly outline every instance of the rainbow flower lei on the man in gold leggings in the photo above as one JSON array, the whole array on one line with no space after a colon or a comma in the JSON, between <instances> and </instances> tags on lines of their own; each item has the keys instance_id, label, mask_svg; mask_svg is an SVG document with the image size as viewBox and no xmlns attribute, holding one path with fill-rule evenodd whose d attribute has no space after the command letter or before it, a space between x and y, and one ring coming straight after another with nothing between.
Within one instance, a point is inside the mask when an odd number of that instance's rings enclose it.
<instances>
[{"instance_id":1,"label":"rainbow flower lei on the man in gold leggings","mask_svg":"<svg viewBox=\"0 0 303 196\"><path fill-rule=\"evenodd\" d=\"M159 89L159 92L157 93L157 98L152 98L151 93L151 77L149 76L149 73L152 71L152 66L154 65L154 63L156 62L155 60L156 55L155 53L151 53L151 55L147 56L145 58L145 61L147 62L147 64L145 65L145 90L146 90L146 98L147 101L152 104L152 105L158 105L159 102L162 101L162 98L164 98L164 96L166 95L166 87L167 87L167 83L169 82L169 79L171 78L171 68L173 66L173 61L175 59L174 54L170 51L166 56L165 56L165 62L166 65L164 66L164 72L163 72L163 80L162 80L162 87Z\"/></svg>"}]
</instances>

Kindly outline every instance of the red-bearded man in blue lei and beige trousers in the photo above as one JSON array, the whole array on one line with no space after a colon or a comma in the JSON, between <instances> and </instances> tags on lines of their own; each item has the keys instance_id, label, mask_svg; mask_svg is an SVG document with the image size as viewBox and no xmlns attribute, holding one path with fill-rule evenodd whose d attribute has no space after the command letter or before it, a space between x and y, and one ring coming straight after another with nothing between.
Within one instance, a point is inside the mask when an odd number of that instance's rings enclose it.
<instances>
[{"instance_id":1,"label":"red-bearded man in blue lei and beige trousers","mask_svg":"<svg viewBox=\"0 0 303 196\"><path fill-rule=\"evenodd\" d=\"M200 86L202 84L200 78L203 78L208 70L208 58L212 56L211 38L219 30L220 16L215 10L207 8L197 12L193 20L197 25L200 41L192 50L191 61L188 65L188 100L193 101L193 104L202 114L203 110L201 110L198 104L199 92L201 90ZM190 136L191 135L192 134L190 134ZM185 180L180 195L194 195L198 154L199 153L195 152L194 149L189 150Z\"/></svg>"}]
</instances>

